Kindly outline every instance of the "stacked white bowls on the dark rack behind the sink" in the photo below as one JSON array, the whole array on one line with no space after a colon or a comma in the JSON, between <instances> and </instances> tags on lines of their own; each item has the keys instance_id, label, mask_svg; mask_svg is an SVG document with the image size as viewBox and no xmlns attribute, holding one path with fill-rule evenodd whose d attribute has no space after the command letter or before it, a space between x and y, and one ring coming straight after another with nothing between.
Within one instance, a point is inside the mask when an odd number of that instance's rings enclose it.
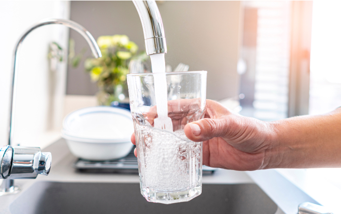
<instances>
[{"instance_id":1,"label":"stacked white bowls on the dark rack behind the sink","mask_svg":"<svg viewBox=\"0 0 341 214\"><path fill-rule=\"evenodd\" d=\"M111 160L129 154L133 131L130 111L120 107L87 107L64 118L62 137L78 158Z\"/></svg>"}]
</instances>

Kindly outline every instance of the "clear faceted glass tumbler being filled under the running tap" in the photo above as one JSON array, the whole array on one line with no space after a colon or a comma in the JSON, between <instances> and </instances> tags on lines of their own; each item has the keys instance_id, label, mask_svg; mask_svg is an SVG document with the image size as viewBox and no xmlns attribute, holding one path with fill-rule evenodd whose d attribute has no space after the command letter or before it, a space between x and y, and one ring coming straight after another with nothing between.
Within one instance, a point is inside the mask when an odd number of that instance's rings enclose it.
<instances>
[{"instance_id":1,"label":"clear faceted glass tumbler being filled under the running tap","mask_svg":"<svg viewBox=\"0 0 341 214\"><path fill-rule=\"evenodd\" d=\"M204 118L207 71L166 73L168 116L173 132L154 128L154 76L128 74L141 194L149 202L189 201L202 190L202 142L189 140L184 127Z\"/></svg>"}]
</instances>

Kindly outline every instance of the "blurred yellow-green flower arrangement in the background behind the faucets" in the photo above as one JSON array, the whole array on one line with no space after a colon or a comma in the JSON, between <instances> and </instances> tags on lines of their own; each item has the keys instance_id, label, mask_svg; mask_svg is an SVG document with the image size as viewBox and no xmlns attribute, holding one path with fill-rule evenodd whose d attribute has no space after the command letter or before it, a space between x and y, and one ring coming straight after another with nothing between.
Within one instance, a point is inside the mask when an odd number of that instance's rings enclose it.
<instances>
[{"instance_id":1,"label":"blurred yellow-green flower arrangement in the background behind the faucets","mask_svg":"<svg viewBox=\"0 0 341 214\"><path fill-rule=\"evenodd\" d=\"M97 44L102 57L86 59L84 67L91 80L97 82L99 104L109 106L128 97L129 61L135 58L146 60L147 54L137 54L138 46L126 35L100 36Z\"/></svg>"}]
</instances>

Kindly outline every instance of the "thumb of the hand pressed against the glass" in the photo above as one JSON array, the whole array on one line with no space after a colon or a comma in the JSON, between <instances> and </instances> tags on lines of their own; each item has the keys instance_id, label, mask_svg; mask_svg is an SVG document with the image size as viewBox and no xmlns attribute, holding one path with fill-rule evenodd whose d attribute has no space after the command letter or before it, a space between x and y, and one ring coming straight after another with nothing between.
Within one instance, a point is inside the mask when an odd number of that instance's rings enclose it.
<instances>
[{"instance_id":1,"label":"thumb of the hand pressed against the glass","mask_svg":"<svg viewBox=\"0 0 341 214\"><path fill-rule=\"evenodd\" d=\"M223 137L228 131L228 120L226 118L210 119L204 118L186 124L184 131L188 139L201 142L213 137Z\"/></svg>"}]
</instances>

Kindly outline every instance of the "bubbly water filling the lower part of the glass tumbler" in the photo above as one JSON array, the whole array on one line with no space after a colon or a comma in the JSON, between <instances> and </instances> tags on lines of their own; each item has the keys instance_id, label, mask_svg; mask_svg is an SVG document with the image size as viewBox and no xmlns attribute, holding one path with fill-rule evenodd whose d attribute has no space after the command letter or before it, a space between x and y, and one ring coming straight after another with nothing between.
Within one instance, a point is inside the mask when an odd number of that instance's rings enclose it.
<instances>
[{"instance_id":1,"label":"bubbly water filling the lower part of the glass tumbler","mask_svg":"<svg viewBox=\"0 0 341 214\"><path fill-rule=\"evenodd\" d=\"M201 145L184 130L173 133L148 125L136 125L136 146L143 170L143 184L158 191L192 188L200 178ZM145 148L145 149L143 149Z\"/></svg>"}]
</instances>

